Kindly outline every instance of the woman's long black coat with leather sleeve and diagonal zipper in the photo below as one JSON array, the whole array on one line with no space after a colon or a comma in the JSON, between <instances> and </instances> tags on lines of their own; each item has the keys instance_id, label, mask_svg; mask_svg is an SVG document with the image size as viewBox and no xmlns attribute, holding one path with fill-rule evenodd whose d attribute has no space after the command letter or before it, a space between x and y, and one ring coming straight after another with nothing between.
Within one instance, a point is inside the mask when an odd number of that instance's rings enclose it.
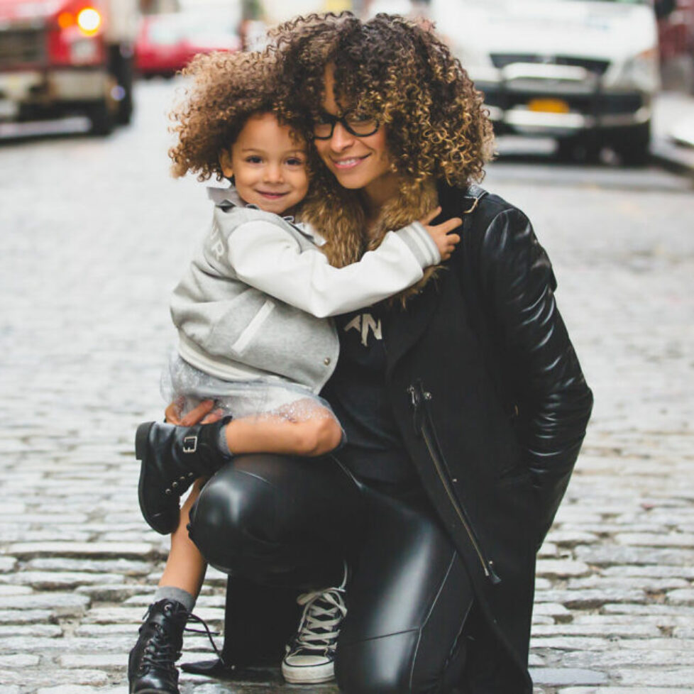
<instances>
[{"instance_id":1,"label":"woman's long black coat with leather sleeve and diagonal zipper","mask_svg":"<svg viewBox=\"0 0 694 694\"><path fill-rule=\"evenodd\" d=\"M571 476L593 396L519 209L439 189L461 243L384 331L402 438L466 562L488 625L527 674L535 553ZM475 207L469 215L464 214Z\"/></svg>"}]
</instances>

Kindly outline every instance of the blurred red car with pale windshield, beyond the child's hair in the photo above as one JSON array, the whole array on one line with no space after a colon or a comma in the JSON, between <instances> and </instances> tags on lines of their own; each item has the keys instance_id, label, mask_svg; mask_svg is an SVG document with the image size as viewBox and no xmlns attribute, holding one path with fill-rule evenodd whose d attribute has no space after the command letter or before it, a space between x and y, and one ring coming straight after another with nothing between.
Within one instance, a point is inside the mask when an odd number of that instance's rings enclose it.
<instances>
[{"instance_id":1,"label":"blurred red car with pale windshield, beyond the child's hair","mask_svg":"<svg viewBox=\"0 0 694 694\"><path fill-rule=\"evenodd\" d=\"M218 13L180 12L143 18L135 47L143 77L172 77L198 53L239 50L238 23Z\"/></svg>"}]
</instances>

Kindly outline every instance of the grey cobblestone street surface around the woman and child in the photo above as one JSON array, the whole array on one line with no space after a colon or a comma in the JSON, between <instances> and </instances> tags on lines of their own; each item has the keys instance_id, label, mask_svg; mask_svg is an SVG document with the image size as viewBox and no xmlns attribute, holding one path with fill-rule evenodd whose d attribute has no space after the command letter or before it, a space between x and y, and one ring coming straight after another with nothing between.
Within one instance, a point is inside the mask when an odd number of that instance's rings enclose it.
<instances>
[{"instance_id":1,"label":"grey cobblestone street surface around the woman and child","mask_svg":"<svg viewBox=\"0 0 694 694\"><path fill-rule=\"evenodd\" d=\"M0 146L0 689L126 690L167 540L141 520L133 432L160 417L167 299L209 216L167 175L171 85L104 141ZM595 390L541 549L542 694L694 691L694 196L682 177L502 158L488 187L534 221ZM199 615L221 626L224 576ZM188 638L185 660L203 639ZM288 690L183 676L184 694ZM304 690L302 690L304 691ZM313 692L334 693L331 685Z\"/></svg>"}]
</instances>

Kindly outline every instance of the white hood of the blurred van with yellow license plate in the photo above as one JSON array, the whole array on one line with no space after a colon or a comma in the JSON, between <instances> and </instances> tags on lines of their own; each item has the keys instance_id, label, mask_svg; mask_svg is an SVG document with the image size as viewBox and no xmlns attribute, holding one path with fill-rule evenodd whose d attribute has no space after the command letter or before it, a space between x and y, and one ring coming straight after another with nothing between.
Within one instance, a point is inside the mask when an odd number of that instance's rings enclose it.
<instances>
[{"instance_id":1,"label":"white hood of the blurred van with yellow license plate","mask_svg":"<svg viewBox=\"0 0 694 694\"><path fill-rule=\"evenodd\" d=\"M431 18L463 53L617 60L656 45L649 4L606 0L432 0Z\"/></svg>"}]
</instances>

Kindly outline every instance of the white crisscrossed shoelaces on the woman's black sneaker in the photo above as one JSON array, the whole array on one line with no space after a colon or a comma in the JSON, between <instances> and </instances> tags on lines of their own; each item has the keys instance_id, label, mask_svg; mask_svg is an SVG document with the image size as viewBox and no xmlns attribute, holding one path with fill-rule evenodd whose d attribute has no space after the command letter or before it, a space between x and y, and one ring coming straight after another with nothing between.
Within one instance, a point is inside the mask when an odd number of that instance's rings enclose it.
<instances>
[{"instance_id":1,"label":"white crisscrossed shoelaces on the woman's black sneaker","mask_svg":"<svg viewBox=\"0 0 694 694\"><path fill-rule=\"evenodd\" d=\"M328 588L299 595L297 602L304 605L304 612L295 647L321 650L335 646L342 620L347 614L344 593L343 588Z\"/></svg>"}]
</instances>

